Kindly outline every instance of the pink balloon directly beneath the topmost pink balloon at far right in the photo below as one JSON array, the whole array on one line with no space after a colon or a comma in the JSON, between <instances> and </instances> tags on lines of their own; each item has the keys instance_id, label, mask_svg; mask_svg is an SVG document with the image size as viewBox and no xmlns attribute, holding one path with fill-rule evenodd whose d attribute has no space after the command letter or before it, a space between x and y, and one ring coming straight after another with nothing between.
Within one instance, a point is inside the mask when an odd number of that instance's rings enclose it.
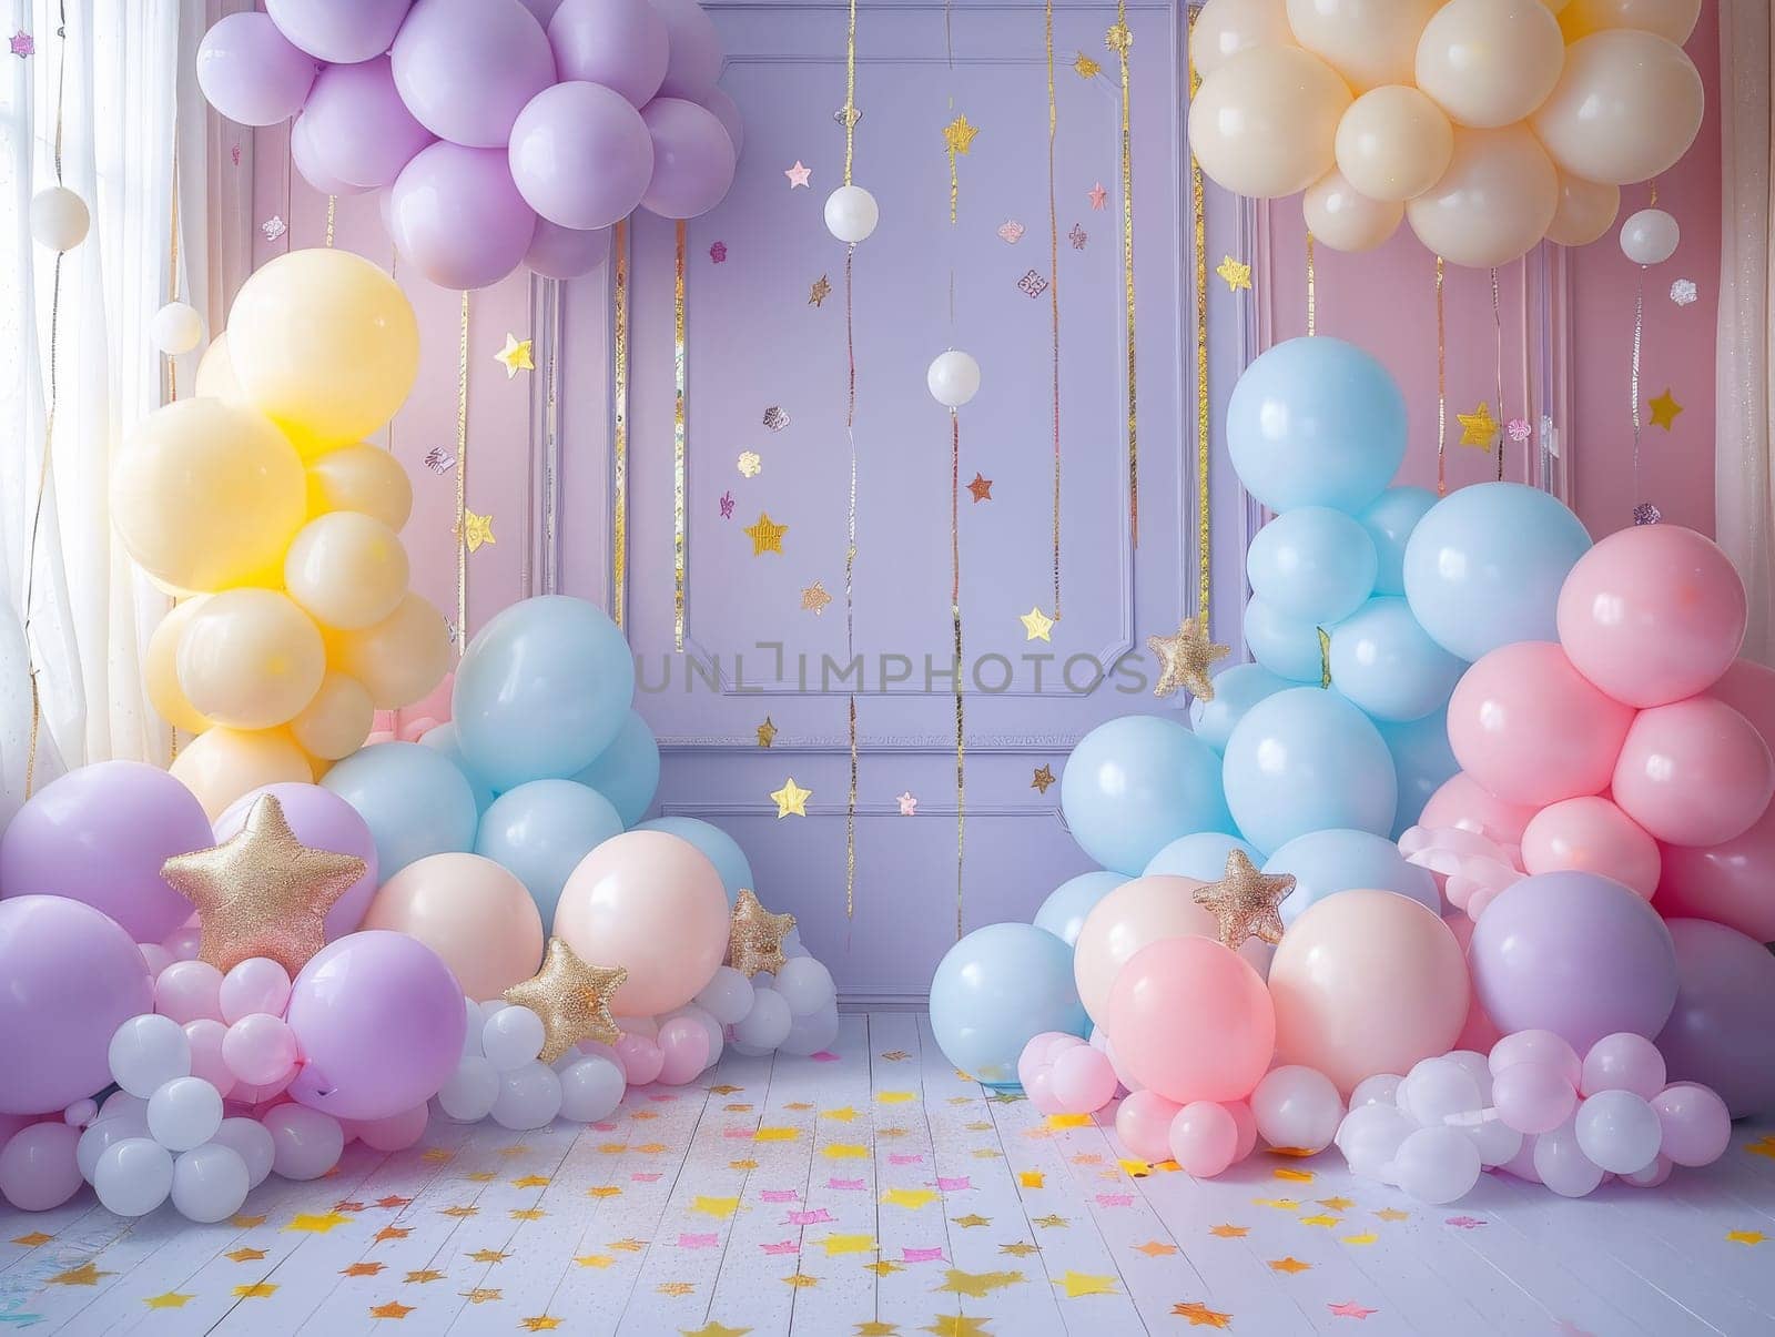
<instances>
[{"instance_id":1,"label":"pink balloon directly beneath the topmost pink balloon at far right","mask_svg":"<svg viewBox=\"0 0 1775 1337\"><path fill-rule=\"evenodd\" d=\"M1775 756L1748 719L1711 696L1642 710L1615 763L1615 803L1658 840L1718 845L1775 795Z\"/></svg>"}]
</instances>

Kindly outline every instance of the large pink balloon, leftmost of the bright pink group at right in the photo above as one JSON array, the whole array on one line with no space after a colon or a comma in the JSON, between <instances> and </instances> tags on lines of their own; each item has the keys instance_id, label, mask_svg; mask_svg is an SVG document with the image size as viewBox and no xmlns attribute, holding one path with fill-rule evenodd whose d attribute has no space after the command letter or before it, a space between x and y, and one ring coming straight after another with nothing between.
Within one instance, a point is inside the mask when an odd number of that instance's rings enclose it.
<instances>
[{"instance_id":1,"label":"large pink balloon, leftmost of the bright pink group at right","mask_svg":"<svg viewBox=\"0 0 1775 1337\"><path fill-rule=\"evenodd\" d=\"M1631 723L1633 710L1592 687L1550 641L1489 652L1448 700L1461 769L1500 799L1535 806L1601 794Z\"/></svg>"}]
</instances>

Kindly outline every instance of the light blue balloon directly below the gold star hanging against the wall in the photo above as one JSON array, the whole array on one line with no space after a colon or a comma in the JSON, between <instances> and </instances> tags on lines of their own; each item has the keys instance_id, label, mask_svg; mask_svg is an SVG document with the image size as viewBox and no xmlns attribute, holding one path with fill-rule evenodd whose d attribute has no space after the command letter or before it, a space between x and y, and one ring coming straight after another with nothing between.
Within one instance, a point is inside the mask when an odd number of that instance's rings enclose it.
<instances>
[{"instance_id":1,"label":"light blue balloon directly below the gold star hanging against the wall","mask_svg":"<svg viewBox=\"0 0 1775 1337\"><path fill-rule=\"evenodd\" d=\"M1234 829L1214 749L1164 716L1124 716L1079 739L1060 808L1079 847L1129 877L1179 836Z\"/></svg>"}]
</instances>

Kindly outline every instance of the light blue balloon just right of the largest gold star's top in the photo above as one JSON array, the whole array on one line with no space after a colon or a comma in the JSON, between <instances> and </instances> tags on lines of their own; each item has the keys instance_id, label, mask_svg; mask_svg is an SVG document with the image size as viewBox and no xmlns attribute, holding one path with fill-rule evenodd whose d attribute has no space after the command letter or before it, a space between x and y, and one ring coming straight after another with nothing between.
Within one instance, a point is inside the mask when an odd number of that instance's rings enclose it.
<instances>
[{"instance_id":1,"label":"light blue balloon just right of the largest gold star's top","mask_svg":"<svg viewBox=\"0 0 1775 1337\"><path fill-rule=\"evenodd\" d=\"M346 756L321 787L357 808L376 840L376 866L389 881L430 854L474 849L479 811L474 790L451 760L417 742L376 742Z\"/></svg>"}]
</instances>

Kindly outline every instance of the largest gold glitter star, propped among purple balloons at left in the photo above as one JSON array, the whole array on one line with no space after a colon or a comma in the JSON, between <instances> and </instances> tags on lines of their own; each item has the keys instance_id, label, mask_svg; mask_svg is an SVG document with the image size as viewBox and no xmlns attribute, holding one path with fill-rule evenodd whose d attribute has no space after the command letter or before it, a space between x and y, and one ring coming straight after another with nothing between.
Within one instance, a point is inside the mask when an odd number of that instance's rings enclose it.
<instances>
[{"instance_id":1,"label":"largest gold glitter star, propped among purple balloons at left","mask_svg":"<svg viewBox=\"0 0 1775 1337\"><path fill-rule=\"evenodd\" d=\"M160 875L202 916L199 957L224 973L270 957L295 975L325 946L327 911L364 875L364 861L304 845L264 794L236 835L174 854Z\"/></svg>"}]
</instances>

